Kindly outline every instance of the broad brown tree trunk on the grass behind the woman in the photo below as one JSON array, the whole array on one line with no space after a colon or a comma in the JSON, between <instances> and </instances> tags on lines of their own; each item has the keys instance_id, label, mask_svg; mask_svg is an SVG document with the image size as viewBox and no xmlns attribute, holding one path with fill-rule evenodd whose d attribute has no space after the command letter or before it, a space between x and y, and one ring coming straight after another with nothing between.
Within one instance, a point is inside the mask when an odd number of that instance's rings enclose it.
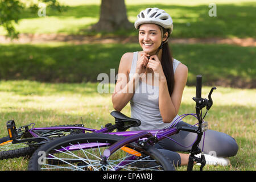
<instances>
[{"instance_id":1,"label":"broad brown tree trunk on the grass behind the woman","mask_svg":"<svg viewBox=\"0 0 256 182\"><path fill-rule=\"evenodd\" d=\"M101 0L100 20L92 30L112 32L130 28L133 23L127 19L125 0Z\"/></svg>"}]
</instances>

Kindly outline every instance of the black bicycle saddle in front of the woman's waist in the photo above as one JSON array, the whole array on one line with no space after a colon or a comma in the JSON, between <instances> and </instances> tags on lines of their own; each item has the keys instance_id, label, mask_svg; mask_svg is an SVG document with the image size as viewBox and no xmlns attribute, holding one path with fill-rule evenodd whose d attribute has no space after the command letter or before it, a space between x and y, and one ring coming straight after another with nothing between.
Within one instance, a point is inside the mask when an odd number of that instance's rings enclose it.
<instances>
[{"instance_id":1,"label":"black bicycle saddle in front of the woman's waist","mask_svg":"<svg viewBox=\"0 0 256 182\"><path fill-rule=\"evenodd\" d=\"M110 114L115 118L115 125L117 126L118 131L126 131L130 127L137 127L141 125L141 121L139 119L129 118L119 111L114 110Z\"/></svg>"}]
</instances>

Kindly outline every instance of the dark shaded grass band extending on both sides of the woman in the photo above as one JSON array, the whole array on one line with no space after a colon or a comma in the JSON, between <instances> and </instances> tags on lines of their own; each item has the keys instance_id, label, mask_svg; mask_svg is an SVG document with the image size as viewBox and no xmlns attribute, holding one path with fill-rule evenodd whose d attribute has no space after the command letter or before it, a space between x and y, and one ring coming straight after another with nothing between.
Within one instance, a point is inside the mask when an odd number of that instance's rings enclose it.
<instances>
[{"instance_id":1,"label":"dark shaded grass band extending on both sides of the woman","mask_svg":"<svg viewBox=\"0 0 256 182\"><path fill-rule=\"evenodd\" d=\"M174 57L189 69L188 85L203 75L205 85L255 88L255 48L230 45L174 44ZM0 46L0 78L43 82L97 81L110 69L118 73L125 52L140 51L139 44L5 44Z\"/></svg>"}]
</instances>

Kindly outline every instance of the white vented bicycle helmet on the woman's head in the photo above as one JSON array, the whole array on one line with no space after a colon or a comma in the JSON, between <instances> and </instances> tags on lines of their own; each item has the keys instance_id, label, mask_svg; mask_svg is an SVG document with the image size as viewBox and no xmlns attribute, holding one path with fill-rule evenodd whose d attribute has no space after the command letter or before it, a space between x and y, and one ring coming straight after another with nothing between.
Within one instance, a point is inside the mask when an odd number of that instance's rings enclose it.
<instances>
[{"instance_id":1,"label":"white vented bicycle helmet on the woman's head","mask_svg":"<svg viewBox=\"0 0 256 182\"><path fill-rule=\"evenodd\" d=\"M137 20L134 23L134 27L138 29L141 24L144 23L154 23L162 26L163 28L169 29L170 34L173 30L172 18L164 10L160 10L157 7L147 8L146 10L141 11L137 15Z\"/></svg>"}]
</instances>

